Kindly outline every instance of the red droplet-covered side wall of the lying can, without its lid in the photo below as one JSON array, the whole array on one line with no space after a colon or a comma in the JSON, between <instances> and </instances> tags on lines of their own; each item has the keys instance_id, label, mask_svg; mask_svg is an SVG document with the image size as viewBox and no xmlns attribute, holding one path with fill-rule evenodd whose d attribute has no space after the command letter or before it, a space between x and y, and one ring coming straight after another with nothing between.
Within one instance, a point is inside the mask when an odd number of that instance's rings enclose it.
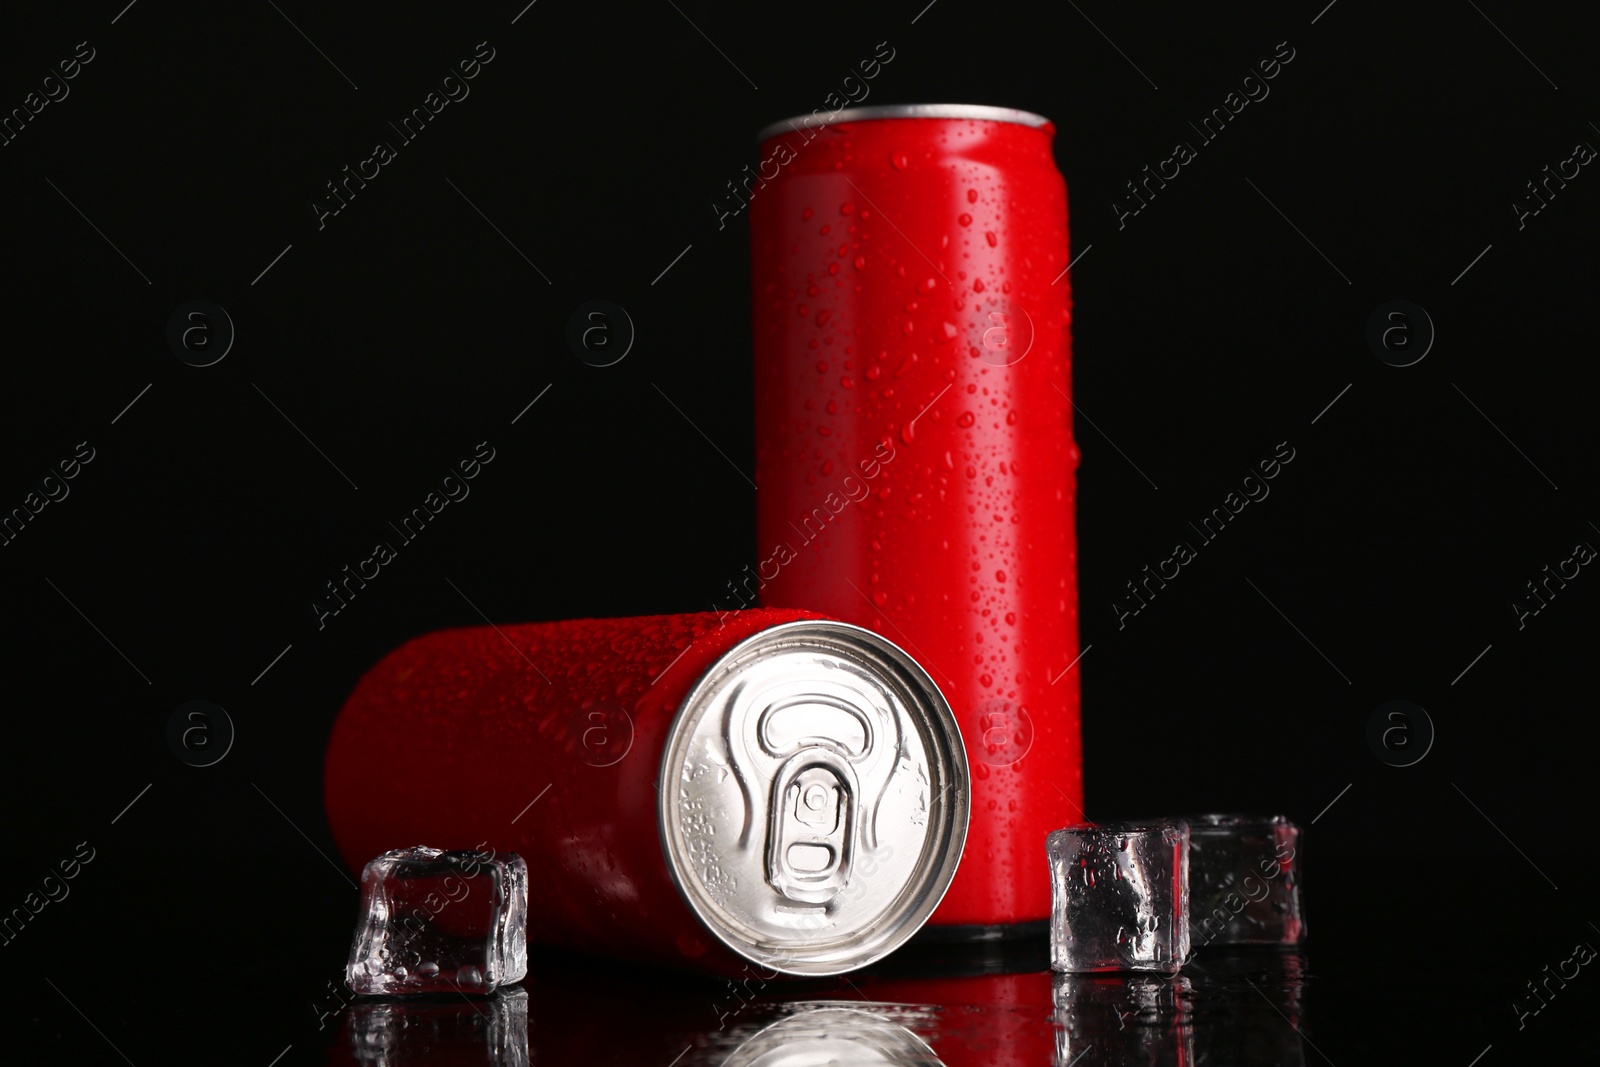
<instances>
[{"instance_id":1,"label":"red droplet-covered side wall of the lying can, without its lid","mask_svg":"<svg viewBox=\"0 0 1600 1067\"><path fill-rule=\"evenodd\" d=\"M408 641L360 680L333 726L323 789L334 841L354 872L410 845L518 853L530 941L738 973L746 963L667 873L661 753L683 697L723 653L814 617L578 619Z\"/></svg>"}]
</instances>

